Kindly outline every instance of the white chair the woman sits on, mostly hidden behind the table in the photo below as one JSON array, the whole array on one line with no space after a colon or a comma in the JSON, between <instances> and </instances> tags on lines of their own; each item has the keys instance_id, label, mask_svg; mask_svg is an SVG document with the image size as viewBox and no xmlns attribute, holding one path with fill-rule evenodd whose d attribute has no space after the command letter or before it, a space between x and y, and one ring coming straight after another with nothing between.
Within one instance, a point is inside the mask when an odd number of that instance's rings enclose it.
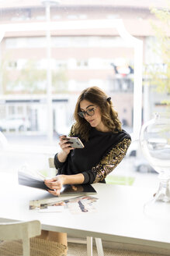
<instances>
[{"instance_id":1,"label":"white chair the woman sits on, mostly hidden behind the table","mask_svg":"<svg viewBox=\"0 0 170 256\"><path fill-rule=\"evenodd\" d=\"M48 163L50 168L55 168L54 158L48 158ZM71 239L71 242L74 243L74 239ZM77 240L75 240L78 243ZM97 248L97 252L99 256L104 256L104 252L102 249L102 239L95 237L95 244ZM87 256L92 256L92 236L87 236Z\"/></svg>"}]
</instances>

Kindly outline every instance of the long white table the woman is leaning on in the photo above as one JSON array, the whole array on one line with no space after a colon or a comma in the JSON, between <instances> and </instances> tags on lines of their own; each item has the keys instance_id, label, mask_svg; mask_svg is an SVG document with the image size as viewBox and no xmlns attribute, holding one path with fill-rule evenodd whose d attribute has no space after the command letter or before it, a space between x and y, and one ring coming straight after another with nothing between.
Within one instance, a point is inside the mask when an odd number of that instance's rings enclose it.
<instances>
[{"instance_id":1,"label":"long white table the woman is leaning on","mask_svg":"<svg viewBox=\"0 0 170 256\"><path fill-rule=\"evenodd\" d=\"M97 212L72 215L69 212L40 213L29 210L29 201L53 197L46 191L19 186L16 176L1 173L0 221L38 219L42 229L78 237L93 236L116 243L170 250L169 221L150 219L144 203L154 190L96 183Z\"/></svg>"}]
</instances>

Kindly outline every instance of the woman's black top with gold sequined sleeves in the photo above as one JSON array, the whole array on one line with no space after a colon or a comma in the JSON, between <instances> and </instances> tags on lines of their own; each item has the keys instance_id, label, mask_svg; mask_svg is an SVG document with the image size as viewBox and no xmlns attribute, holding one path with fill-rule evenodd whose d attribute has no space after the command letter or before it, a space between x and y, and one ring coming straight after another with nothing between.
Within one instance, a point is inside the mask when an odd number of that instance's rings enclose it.
<instances>
[{"instance_id":1,"label":"woman's black top with gold sequined sleeves","mask_svg":"<svg viewBox=\"0 0 170 256\"><path fill-rule=\"evenodd\" d=\"M82 140L78 134L72 133L71 136ZM58 169L57 174L82 173L85 177L84 183L104 182L106 175L126 154L130 145L130 135L125 130L119 133L104 133L92 127L88 141L82 142L85 148L71 150L65 162L59 162L57 154L55 155L54 165Z\"/></svg>"}]
</instances>

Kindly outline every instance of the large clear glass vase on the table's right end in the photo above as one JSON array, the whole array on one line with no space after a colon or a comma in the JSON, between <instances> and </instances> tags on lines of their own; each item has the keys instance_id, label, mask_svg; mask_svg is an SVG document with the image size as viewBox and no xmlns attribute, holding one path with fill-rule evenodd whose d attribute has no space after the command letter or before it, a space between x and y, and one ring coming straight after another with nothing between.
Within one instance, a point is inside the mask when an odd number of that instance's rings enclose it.
<instances>
[{"instance_id":1,"label":"large clear glass vase on the table's right end","mask_svg":"<svg viewBox=\"0 0 170 256\"><path fill-rule=\"evenodd\" d=\"M144 123L140 133L141 150L150 165L158 172L159 187L150 201L144 204L147 215L170 216L170 112L155 113Z\"/></svg>"}]
</instances>

